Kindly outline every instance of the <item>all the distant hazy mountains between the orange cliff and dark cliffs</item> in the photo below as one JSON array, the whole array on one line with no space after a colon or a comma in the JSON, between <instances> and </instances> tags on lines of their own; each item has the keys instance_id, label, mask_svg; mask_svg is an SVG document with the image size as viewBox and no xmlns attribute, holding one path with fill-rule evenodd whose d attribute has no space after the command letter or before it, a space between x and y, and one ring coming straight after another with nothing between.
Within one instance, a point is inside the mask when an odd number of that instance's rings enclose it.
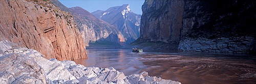
<instances>
[{"instance_id":1,"label":"all the distant hazy mountains between the orange cliff and dark cliffs","mask_svg":"<svg viewBox=\"0 0 256 84\"><path fill-rule=\"evenodd\" d=\"M133 13L129 4L90 13L81 7L67 8L57 0L51 2L74 16L87 46L96 41L125 45L139 37L141 15Z\"/></svg>"}]
</instances>

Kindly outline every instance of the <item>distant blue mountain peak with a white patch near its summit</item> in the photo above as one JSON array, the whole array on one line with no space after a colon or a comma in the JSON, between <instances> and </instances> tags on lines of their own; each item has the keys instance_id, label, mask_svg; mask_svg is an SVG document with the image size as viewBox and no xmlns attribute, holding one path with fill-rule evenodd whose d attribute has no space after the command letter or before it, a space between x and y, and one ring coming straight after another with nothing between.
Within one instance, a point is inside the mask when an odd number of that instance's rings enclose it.
<instances>
[{"instance_id":1,"label":"distant blue mountain peak with a white patch near its summit","mask_svg":"<svg viewBox=\"0 0 256 84\"><path fill-rule=\"evenodd\" d=\"M92 14L109 24L116 26L123 34L126 44L138 39L141 15L133 13L130 10L129 4L111 7L105 11L97 10L92 12Z\"/></svg>"}]
</instances>

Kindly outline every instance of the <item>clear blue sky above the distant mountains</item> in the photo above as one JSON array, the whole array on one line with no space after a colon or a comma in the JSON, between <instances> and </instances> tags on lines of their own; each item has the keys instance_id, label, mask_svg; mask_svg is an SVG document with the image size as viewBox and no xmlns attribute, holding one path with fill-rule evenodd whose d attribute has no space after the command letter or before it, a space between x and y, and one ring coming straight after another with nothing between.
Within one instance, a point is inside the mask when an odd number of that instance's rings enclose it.
<instances>
[{"instance_id":1,"label":"clear blue sky above the distant mountains","mask_svg":"<svg viewBox=\"0 0 256 84\"><path fill-rule=\"evenodd\" d=\"M142 14L141 6L144 0L59 0L60 3L68 8L82 7L83 9L94 12L97 10L107 10L110 7L122 6L123 4L130 4L130 9L136 14Z\"/></svg>"}]
</instances>

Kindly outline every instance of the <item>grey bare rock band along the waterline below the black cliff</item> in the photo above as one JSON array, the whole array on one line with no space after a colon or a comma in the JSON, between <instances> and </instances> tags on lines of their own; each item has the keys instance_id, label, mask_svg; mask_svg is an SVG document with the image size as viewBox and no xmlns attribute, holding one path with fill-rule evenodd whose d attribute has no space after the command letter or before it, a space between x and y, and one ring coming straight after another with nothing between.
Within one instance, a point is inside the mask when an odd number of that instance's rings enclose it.
<instances>
[{"instance_id":1,"label":"grey bare rock band along the waterline below the black cliff","mask_svg":"<svg viewBox=\"0 0 256 84\"><path fill-rule=\"evenodd\" d=\"M178 50L197 52L226 52L226 53L248 53L255 52L255 39L253 37L233 38L186 38L180 41Z\"/></svg>"}]
</instances>

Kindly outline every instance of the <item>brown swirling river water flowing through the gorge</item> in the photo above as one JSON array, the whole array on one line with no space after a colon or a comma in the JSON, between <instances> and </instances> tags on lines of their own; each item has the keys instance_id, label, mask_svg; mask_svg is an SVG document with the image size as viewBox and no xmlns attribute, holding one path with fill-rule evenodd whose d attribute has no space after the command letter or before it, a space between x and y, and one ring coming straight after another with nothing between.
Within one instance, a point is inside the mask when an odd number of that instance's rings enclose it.
<instances>
[{"instance_id":1,"label":"brown swirling river water flowing through the gorge","mask_svg":"<svg viewBox=\"0 0 256 84\"><path fill-rule=\"evenodd\" d=\"M175 51L132 52L88 49L86 67L114 67L125 75L146 71L150 76L181 83L256 83L256 55Z\"/></svg>"}]
</instances>

